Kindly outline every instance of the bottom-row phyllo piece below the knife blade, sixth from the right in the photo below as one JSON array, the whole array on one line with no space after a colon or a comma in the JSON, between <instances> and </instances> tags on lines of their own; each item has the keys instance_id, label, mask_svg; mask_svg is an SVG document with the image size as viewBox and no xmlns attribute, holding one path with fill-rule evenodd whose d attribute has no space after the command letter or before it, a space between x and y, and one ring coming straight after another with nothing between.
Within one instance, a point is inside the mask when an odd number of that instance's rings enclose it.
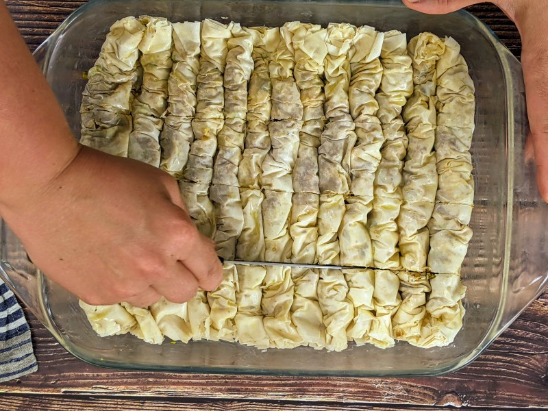
<instances>
[{"instance_id":1,"label":"bottom-row phyllo piece below the knife blade, sixth from the right","mask_svg":"<svg viewBox=\"0 0 548 411\"><path fill-rule=\"evenodd\" d=\"M321 349L325 347L325 325L318 302L319 273L317 270L293 267L291 278L295 284L291 321L303 340L302 345Z\"/></svg>"}]
</instances>

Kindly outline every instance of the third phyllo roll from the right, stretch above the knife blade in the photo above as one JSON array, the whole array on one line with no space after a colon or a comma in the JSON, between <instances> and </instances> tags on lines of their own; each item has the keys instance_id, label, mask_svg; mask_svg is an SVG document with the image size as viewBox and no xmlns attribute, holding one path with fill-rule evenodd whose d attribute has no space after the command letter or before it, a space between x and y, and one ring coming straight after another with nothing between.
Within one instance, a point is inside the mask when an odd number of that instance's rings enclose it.
<instances>
[{"instance_id":1,"label":"third phyllo roll from the right, stretch above the knife blade","mask_svg":"<svg viewBox=\"0 0 548 411\"><path fill-rule=\"evenodd\" d=\"M406 34L391 31L384 34L381 49L382 78L375 100L377 118L382 123L384 142L381 160L373 182L373 208L368 226L373 249L373 266L399 269L399 230L397 217L401 206L401 169L408 139L401 109L413 91L413 70L407 53Z\"/></svg>"}]
</instances>

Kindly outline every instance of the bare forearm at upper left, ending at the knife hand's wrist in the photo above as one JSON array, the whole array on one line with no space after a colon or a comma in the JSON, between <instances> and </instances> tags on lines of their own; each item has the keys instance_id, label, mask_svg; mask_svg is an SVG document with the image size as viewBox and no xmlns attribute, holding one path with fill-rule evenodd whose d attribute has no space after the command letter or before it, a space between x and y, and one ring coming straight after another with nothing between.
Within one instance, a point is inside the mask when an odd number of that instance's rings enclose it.
<instances>
[{"instance_id":1,"label":"bare forearm at upper left, ending at the knife hand's wrist","mask_svg":"<svg viewBox=\"0 0 548 411\"><path fill-rule=\"evenodd\" d=\"M46 186L79 145L3 1L0 38L1 214Z\"/></svg>"}]
</instances>

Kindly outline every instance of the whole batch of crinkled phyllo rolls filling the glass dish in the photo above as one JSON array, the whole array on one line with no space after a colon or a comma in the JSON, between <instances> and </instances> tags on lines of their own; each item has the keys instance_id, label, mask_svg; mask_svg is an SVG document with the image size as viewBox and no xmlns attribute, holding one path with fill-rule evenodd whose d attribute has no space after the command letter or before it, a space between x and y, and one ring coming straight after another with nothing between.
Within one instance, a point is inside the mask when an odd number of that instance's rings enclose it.
<instances>
[{"instance_id":1,"label":"whole batch of crinkled phyllo rolls filling the glass dish","mask_svg":"<svg viewBox=\"0 0 548 411\"><path fill-rule=\"evenodd\" d=\"M225 264L219 287L186 303L80 306L99 336L151 344L452 343L472 236L474 104L453 38L117 21L88 71L82 144L175 177L227 260L350 268Z\"/></svg>"}]
</instances>

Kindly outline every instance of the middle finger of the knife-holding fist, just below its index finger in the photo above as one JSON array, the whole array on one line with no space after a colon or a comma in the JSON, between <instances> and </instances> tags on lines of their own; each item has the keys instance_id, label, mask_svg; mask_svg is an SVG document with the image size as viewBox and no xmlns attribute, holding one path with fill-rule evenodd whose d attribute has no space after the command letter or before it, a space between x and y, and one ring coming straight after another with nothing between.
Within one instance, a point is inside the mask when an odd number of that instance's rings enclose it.
<instances>
[{"instance_id":1,"label":"middle finger of the knife-holding fist, just below its index finger","mask_svg":"<svg viewBox=\"0 0 548 411\"><path fill-rule=\"evenodd\" d=\"M170 273L162 278L162 282L152 284L152 287L172 303L184 303L198 292L198 280L186 266L177 261Z\"/></svg>"}]
</instances>

